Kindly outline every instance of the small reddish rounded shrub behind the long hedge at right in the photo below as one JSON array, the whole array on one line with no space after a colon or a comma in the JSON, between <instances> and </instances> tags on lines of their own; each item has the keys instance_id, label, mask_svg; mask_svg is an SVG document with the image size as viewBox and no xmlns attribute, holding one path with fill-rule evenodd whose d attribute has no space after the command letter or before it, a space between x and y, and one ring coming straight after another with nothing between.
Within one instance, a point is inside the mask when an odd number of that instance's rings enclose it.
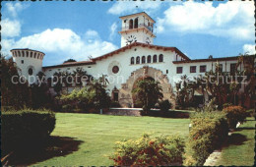
<instances>
[{"instance_id":1,"label":"small reddish rounded shrub behind the long hedge at right","mask_svg":"<svg viewBox=\"0 0 256 167\"><path fill-rule=\"evenodd\" d=\"M245 109L241 106L225 107L223 112L226 114L228 128L234 129L238 122L243 123L246 118Z\"/></svg>"}]
</instances>

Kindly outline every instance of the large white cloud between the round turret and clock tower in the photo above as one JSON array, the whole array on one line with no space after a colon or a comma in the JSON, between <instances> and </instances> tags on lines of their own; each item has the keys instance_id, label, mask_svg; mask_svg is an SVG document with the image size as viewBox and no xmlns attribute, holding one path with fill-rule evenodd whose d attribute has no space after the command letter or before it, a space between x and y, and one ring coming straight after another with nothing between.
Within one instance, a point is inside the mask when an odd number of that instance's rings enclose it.
<instances>
[{"instance_id":1,"label":"large white cloud between the round turret and clock tower","mask_svg":"<svg viewBox=\"0 0 256 167\"><path fill-rule=\"evenodd\" d=\"M62 63L68 58L78 61L86 60L89 56L96 57L117 49L114 44L102 41L95 30L88 30L85 39L71 29L46 29L40 33L24 36L21 39L3 39L3 52L10 53L13 48L30 48L42 51L47 55L51 64ZM87 38L88 37L88 38Z\"/></svg>"}]
</instances>

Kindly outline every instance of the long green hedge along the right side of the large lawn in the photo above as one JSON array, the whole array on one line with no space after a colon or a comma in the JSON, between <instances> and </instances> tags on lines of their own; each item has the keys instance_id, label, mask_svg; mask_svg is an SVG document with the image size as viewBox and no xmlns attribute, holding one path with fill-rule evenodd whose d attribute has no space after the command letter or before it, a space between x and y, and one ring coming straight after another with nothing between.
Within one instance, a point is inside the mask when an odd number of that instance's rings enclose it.
<instances>
[{"instance_id":1,"label":"long green hedge along the right side of the large lawn","mask_svg":"<svg viewBox=\"0 0 256 167\"><path fill-rule=\"evenodd\" d=\"M222 112L192 114L192 128L187 143L186 166L202 166L208 156L221 147L228 135L228 125Z\"/></svg>"}]
</instances>

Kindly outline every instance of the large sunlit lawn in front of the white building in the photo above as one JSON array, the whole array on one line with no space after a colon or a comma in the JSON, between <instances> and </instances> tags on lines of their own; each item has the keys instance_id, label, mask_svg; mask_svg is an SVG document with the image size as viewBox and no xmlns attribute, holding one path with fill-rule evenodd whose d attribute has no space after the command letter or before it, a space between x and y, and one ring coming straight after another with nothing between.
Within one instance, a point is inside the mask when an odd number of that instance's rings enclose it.
<instances>
[{"instance_id":1,"label":"large sunlit lawn in front of the white building","mask_svg":"<svg viewBox=\"0 0 256 167\"><path fill-rule=\"evenodd\" d=\"M190 122L189 119L71 113L57 113L56 118L56 127L51 136L79 140L81 143L77 145L78 150L73 150L65 156L52 157L34 165L113 165L113 161L109 160L107 155L114 151L115 141L139 139L143 133L152 133L154 136L180 135L187 138Z\"/></svg>"}]
</instances>

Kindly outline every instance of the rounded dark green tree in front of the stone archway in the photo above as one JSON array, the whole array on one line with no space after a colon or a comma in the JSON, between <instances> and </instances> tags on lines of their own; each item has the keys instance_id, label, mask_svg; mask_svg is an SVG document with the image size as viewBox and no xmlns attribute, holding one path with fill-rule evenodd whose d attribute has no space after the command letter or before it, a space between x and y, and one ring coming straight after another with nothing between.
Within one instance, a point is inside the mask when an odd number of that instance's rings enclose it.
<instances>
[{"instance_id":1,"label":"rounded dark green tree in front of the stone archway","mask_svg":"<svg viewBox=\"0 0 256 167\"><path fill-rule=\"evenodd\" d=\"M162 98L159 83L146 79L136 83L136 87L133 88L132 93L143 104L143 112L145 114Z\"/></svg>"}]
</instances>

